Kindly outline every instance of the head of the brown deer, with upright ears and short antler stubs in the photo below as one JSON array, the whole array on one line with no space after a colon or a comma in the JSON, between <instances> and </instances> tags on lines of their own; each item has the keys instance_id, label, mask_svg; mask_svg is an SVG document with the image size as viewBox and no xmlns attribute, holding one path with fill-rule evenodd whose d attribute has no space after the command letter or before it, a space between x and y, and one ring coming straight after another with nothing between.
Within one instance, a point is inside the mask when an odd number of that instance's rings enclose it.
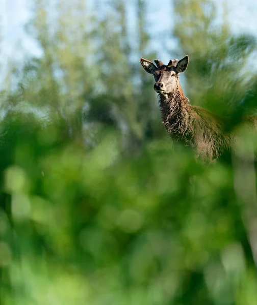
<instances>
[{"instance_id":1,"label":"head of the brown deer, with upright ears and short antler stubs","mask_svg":"<svg viewBox=\"0 0 257 305\"><path fill-rule=\"evenodd\" d=\"M160 59L155 60L155 64L140 58L140 63L146 72L152 74L155 77L155 85L153 88L157 93L169 94L174 92L178 87L178 76L179 73L184 72L188 66L188 55L181 60L171 59L168 65L164 65Z\"/></svg>"}]
</instances>

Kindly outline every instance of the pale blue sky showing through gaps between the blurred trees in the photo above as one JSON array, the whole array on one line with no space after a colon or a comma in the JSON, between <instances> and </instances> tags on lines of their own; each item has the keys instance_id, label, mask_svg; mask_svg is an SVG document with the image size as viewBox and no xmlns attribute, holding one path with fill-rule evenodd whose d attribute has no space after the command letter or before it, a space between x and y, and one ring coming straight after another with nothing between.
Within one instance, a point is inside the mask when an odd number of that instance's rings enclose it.
<instances>
[{"instance_id":1,"label":"pale blue sky showing through gaps between the blurred trees","mask_svg":"<svg viewBox=\"0 0 257 305\"><path fill-rule=\"evenodd\" d=\"M90 0L87 1L90 2ZM0 37L2 38L0 76L3 75L8 65L8 58L21 59L24 53L40 56L40 49L36 42L24 31L24 25L31 16L30 5L32 2L33 0L0 0ZM97 3L101 5L104 2L106 0L98 0ZM257 35L256 0L216 0L217 4L222 2L226 2L229 8L228 20L234 33ZM161 6L156 4L156 0L148 0L147 4L149 10L148 22L152 35L158 36L164 31L165 27L171 28L172 10L169 5L170 0L162 0ZM133 12L130 12L130 14L132 17ZM131 31L133 32L133 18L129 18L129 20L131 20ZM159 58L162 57L163 61L169 60L169 54L165 54L161 48L158 50L156 46L153 47L155 47L157 53L160 53Z\"/></svg>"}]
</instances>

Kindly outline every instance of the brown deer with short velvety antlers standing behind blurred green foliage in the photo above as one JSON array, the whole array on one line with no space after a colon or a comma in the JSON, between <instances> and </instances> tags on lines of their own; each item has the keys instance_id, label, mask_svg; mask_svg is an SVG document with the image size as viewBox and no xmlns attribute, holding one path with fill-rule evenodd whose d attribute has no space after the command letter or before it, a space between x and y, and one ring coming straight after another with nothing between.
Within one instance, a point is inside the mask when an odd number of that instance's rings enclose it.
<instances>
[{"instance_id":1,"label":"brown deer with short velvety antlers standing behind blurred green foliage","mask_svg":"<svg viewBox=\"0 0 257 305\"><path fill-rule=\"evenodd\" d=\"M179 75L189 63L189 57L171 59L164 65L160 59L155 64L140 58L144 70L155 77L153 88L159 94L162 124L174 142L193 149L197 157L205 161L216 161L226 152L235 150L235 134L225 131L224 118L200 107L194 106L185 96ZM245 119L254 125L256 116Z\"/></svg>"}]
</instances>

